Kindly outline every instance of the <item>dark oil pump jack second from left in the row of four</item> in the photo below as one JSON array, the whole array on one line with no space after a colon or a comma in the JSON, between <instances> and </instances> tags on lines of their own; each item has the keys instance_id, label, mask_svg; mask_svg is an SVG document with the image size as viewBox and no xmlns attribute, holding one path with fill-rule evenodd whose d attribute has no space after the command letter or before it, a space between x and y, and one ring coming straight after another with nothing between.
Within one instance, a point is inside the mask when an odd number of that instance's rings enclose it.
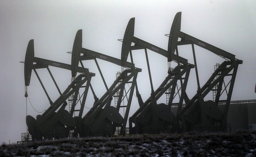
<instances>
[{"instance_id":1,"label":"dark oil pump jack second from left in the row of four","mask_svg":"<svg viewBox=\"0 0 256 157\"><path fill-rule=\"evenodd\" d=\"M141 71L141 69L136 68L133 64L133 61L132 63L125 62L125 64L122 64L123 61L120 59L82 48L82 30L77 31L74 45L76 45L76 51L73 51L72 59L76 59L72 60L72 67L75 67L72 69L72 76L76 76L76 67L78 66L79 62L82 67L84 67L82 63L83 60L94 60L107 90L107 92L100 99L94 102L93 107L85 114L83 118L82 114L79 114L79 116L75 117L76 133L79 133L80 137L95 135L108 136L114 135L116 127L121 127L119 133L124 134L134 88L136 88L138 100L142 101L136 83L137 74ZM102 75L97 59L102 59L119 66L122 65L123 68L126 68L126 70L122 71L122 73L117 77L117 79L109 88ZM132 81L130 81L131 79ZM124 87L125 84L128 83L131 83L130 89L128 90L130 91L129 97L127 96L128 92L125 92ZM113 96L118 97L118 101L115 107L111 106ZM123 97L126 96L128 97L127 105L122 106L121 102L124 100ZM119 109L121 107L126 108L124 117L122 117L119 113Z\"/></svg>"}]
</instances>

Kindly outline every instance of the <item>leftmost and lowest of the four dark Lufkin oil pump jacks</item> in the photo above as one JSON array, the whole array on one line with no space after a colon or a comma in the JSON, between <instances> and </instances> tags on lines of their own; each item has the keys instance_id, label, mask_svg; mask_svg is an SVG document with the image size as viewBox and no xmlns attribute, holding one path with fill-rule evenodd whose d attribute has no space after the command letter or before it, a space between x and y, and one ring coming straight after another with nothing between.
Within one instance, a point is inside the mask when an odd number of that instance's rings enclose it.
<instances>
[{"instance_id":1,"label":"leftmost and lowest of the four dark Lufkin oil pump jacks","mask_svg":"<svg viewBox=\"0 0 256 157\"><path fill-rule=\"evenodd\" d=\"M72 117L73 113L69 113L67 110L65 110L65 107L67 106L66 100L71 94L73 94L75 91L78 91L79 88L81 88L85 82L87 83L90 82L91 77L95 76L95 74L89 72L89 70L86 68L76 67L76 71L81 74L76 77L76 79L67 87L67 89L63 93L61 93L48 66L54 66L54 67L67 69L67 70L71 70L73 67L69 64L64 64L60 62L55 62L55 61L35 57L34 56L34 40L30 40L28 42L24 64L25 64L24 76L25 76L25 86L26 86L25 97L28 97L27 86L29 86L30 84L31 73L33 70L50 102L50 107L46 109L46 111L42 115L37 115L36 119L30 115L26 116L28 132L32 135L32 140L42 140L43 137L47 139L52 139L52 138L58 139L58 138L68 137L69 130L72 130L75 128L75 120ZM56 88L60 93L59 98L56 99L56 101L54 102L52 102L52 100L50 99L36 71L36 69L42 69L42 68L46 68L48 70Z\"/></svg>"}]
</instances>

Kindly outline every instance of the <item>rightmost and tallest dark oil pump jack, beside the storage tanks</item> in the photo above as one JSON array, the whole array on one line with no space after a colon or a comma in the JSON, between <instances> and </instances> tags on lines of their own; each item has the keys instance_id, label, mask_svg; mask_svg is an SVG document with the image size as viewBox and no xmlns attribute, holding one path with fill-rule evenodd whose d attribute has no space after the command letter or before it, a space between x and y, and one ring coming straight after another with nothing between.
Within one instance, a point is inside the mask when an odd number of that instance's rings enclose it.
<instances>
[{"instance_id":1,"label":"rightmost and tallest dark oil pump jack, beside the storage tanks","mask_svg":"<svg viewBox=\"0 0 256 157\"><path fill-rule=\"evenodd\" d=\"M228 108L236 79L237 68L239 64L243 63L243 61L236 59L235 55L231 53L228 53L222 49L219 49L213 45L210 45L204 41L201 41L199 39L196 39L195 37L181 32L180 26L181 12L178 12L175 15L172 23L172 29L168 44L168 61L174 60L175 49L178 55L177 46L191 44L198 89L195 96L189 102L186 102L186 106L182 110L181 104L179 104L177 112L177 123L179 122L179 120L182 121L184 131L225 131ZM178 41L179 38L181 39L180 41ZM218 68L213 72L212 76L206 81L206 83L202 87L200 87L199 84L194 45L206 49L226 60L218 66ZM228 77L231 78L226 85L224 82L224 78ZM204 101L204 97L210 91L216 92L215 100ZM224 102L226 102L226 105L224 112L221 112L220 108L218 108L218 102L220 102L220 95L224 91L226 91L227 93L227 99L223 100Z\"/></svg>"}]
</instances>

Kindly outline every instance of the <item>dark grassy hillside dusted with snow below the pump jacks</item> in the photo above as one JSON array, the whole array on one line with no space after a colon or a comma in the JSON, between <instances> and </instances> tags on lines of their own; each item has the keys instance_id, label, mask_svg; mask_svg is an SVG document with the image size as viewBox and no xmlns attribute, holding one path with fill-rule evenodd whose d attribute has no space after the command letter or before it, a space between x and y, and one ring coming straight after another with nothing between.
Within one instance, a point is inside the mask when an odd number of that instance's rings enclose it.
<instances>
[{"instance_id":1,"label":"dark grassy hillside dusted with snow below the pump jacks","mask_svg":"<svg viewBox=\"0 0 256 157\"><path fill-rule=\"evenodd\" d=\"M126 135L2 144L0 156L256 156L256 132Z\"/></svg>"}]
</instances>

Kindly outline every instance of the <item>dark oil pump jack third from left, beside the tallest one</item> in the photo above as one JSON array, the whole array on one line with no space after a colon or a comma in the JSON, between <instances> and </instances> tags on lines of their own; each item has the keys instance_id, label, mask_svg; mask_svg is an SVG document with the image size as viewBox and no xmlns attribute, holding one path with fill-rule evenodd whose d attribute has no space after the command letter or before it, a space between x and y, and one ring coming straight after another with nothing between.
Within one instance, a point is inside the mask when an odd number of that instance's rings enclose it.
<instances>
[{"instance_id":1,"label":"dark oil pump jack third from left, beside the tallest one","mask_svg":"<svg viewBox=\"0 0 256 157\"><path fill-rule=\"evenodd\" d=\"M165 131L168 126L175 123L175 116L171 112L171 107L173 105L173 98L176 96L175 89L177 86L177 81L180 80L181 90L179 104L182 105L183 101L188 102L188 96L186 94L186 87L188 83L188 76L191 68L194 68L193 64L189 64L188 60L182 58L178 55L173 55L173 60L178 63L178 65L173 69L168 69L168 76L164 79L161 85L154 90L153 83L151 79L151 72L148 61L147 49L152 50L162 56L168 57L168 51L161 49L153 44L143 41L134 36L134 23L135 18L130 19L124 34L123 47L122 47L122 61L123 65L126 63L127 56L132 50L144 49L147 65L148 74L151 86L150 97L144 102L140 103L140 108L130 117L129 119L129 130L130 133L159 133L160 131ZM132 42L134 46L131 46ZM168 104L157 104L157 100L169 89L168 94L169 102ZM132 127L132 123L135 127Z\"/></svg>"}]
</instances>

